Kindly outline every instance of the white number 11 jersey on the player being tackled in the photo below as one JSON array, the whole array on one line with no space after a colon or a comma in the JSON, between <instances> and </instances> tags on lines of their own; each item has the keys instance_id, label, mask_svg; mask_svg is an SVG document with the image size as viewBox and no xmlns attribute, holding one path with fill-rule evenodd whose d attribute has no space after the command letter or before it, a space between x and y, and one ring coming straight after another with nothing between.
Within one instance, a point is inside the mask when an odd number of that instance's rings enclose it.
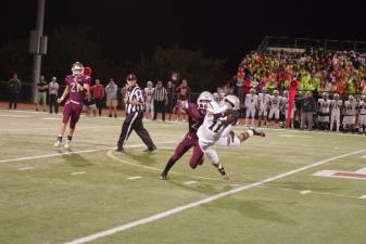
<instances>
[{"instance_id":1,"label":"white number 11 jersey on the player being tackled","mask_svg":"<svg viewBox=\"0 0 366 244\"><path fill-rule=\"evenodd\" d=\"M197 131L197 136L203 142L214 143L223 134L224 130L227 131L227 117L214 118L213 114L224 113L226 111L226 106L220 106L217 102L213 101L209 103L207 113L204 117L203 124L200 126Z\"/></svg>"}]
</instances>

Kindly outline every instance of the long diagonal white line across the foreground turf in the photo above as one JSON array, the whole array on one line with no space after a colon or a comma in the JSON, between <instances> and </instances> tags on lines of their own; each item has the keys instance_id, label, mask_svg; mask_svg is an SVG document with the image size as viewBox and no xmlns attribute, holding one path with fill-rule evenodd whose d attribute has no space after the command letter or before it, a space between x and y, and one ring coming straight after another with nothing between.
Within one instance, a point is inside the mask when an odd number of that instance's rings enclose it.
<instances>
[{"instance_id":1,"label":"long diagonal white line across the foreground turf","mask_svg":"<svg viewBox=\"0 0 366 244\"><path fill-rule=\"evenodd\" d=\"M307 166L304 166L304 167L301 167L301 168L298 168L298 169L294 169L294 170L290 170L288 172L285 172L285 174L281 174L281 175L275 176L275 177L270 177L270 178L267 178L267 179L264 179L264 180L251 183L251 184L244 184L244 185L241 185L237 189L232 189L230 191L222 192L222 193L218 193L216 195L212 195L210 197L206 197L206 198L203 198L203 200L190 203L190 204L186 204L186 205L182 205L180 207L176 207L176 208L173 208L173 209L169 209L169 210L156 214L156 215L152 215L150 217L146 217L146 218L142 218L142 219L139 219L139 220L135 220L135 221L118 226L118 227L114 227L114 228L105 230L105 231L101 231L101 232L98 232L98 233L94 233L94 234L90 234L88 236L75 239L75 240L73 240L71 242L66 242L64 244L83 244L83 243L91 242L91 241L94 241L97 239L101 239L101 237L104 237L104 236L108 236L108 235L112 235L112 234L128 230L128 229L134 228L134 227L138 227L138 226L141 226L141 224L153 222L153 221L156 221L159 219L178 214L178 213L184 211L186 209L211 203L211 202L219 200L224 196L231 195L231 194L235 194L235 193L248 190L248 189L252 189L252 188L255 188L255 187L260 187L264 183L272 182L272 181L275 181L275 180L291 176L291 175L294 175L296 172L301 172L301 171L307 170L310 168L314 168L314 167L324 165L324 164L326 164L328 162L331 162L331 160L336 160L336 159L346 157L346 156L357 154L357 153L363 153L366 150L358 150L358 151L355 151L355 152L352 152L352 153L346 153L346 154L330 157L330 158L327 158L327 159L318 160L318 162L315 162L314 164L311 164L311 165L307 165Z\"/></svg>"}]
</instances>

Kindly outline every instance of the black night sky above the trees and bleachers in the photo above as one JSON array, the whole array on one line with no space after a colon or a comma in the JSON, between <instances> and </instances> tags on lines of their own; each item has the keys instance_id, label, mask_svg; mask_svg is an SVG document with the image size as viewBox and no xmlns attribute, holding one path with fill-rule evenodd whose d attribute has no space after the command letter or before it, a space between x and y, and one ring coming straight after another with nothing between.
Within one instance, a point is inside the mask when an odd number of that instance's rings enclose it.
<instances>
[{"instance_id":1,"label":"black night sky above the trees and bleachers","mask_svg":"<svg viewBox=\"0 0 366 244\"><path fill-rule=\"evenodd\" d=\"M210 56L228 57L236 66L266 35L366 40L366 12L359 2L46 0L45 33L58 26L87 26L105 55L117 63L137 61L140 50L149 53L156 44L179 42ZM1 1L0 41L28 36L35 28L36 3Z\"/></svg>"}]
</instances>

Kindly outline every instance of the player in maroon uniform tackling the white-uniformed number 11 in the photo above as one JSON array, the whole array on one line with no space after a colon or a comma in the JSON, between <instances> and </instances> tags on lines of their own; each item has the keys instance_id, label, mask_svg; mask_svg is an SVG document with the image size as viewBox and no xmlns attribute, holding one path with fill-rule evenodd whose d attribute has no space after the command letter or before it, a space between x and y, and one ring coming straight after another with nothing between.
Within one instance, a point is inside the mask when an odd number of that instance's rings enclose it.
<instances>
[{"instance_id":1,"label":"player in maroon uniform tackling the white-uniformed number 11","mask_svg":"<svg viewBox=\"0 0 366 244\"><path fill-rule=\"evenodd\" d=\"M193 153L190 159L190 167L195 168L198 165L203 163L203 153L199 146L199 141L197 137L197 130L203 123L207 104L213 101L214 98L209 91L203 91L195 103L181 103L178 107L182 113L188 114L188 133L177 145L173 156L167 162L163 172L160 175L160 179L166 180L167 174L175 163L185 153L193 147Z\"/></svg>"}]
</instances>

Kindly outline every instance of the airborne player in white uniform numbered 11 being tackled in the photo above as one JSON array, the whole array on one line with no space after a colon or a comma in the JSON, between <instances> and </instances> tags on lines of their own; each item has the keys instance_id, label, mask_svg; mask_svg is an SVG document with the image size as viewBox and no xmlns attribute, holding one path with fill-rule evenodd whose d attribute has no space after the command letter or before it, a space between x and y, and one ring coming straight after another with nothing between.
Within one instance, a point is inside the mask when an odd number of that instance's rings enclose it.
<instances>
[{"instance_id":1,"label":"airborne player in white uniform numbered 11 being tackled","mask_svg":"<svg viewBox=\"0 0 366 244\"><path fill-rule=\"evenodd\" d=\"M224 102L223 106L219 106L216 102L209 104L203 124L197 134L204 155L210 158L212 165L217 168L224 179L228 180L227 172L218 162L215 145L238 146L253 134L264 137L265 133L262 130L249 129L247 132L235 137L231 128L237 124L239 117L240 101L236 95L227 95Z\"/></svg>"}]
</instances>

